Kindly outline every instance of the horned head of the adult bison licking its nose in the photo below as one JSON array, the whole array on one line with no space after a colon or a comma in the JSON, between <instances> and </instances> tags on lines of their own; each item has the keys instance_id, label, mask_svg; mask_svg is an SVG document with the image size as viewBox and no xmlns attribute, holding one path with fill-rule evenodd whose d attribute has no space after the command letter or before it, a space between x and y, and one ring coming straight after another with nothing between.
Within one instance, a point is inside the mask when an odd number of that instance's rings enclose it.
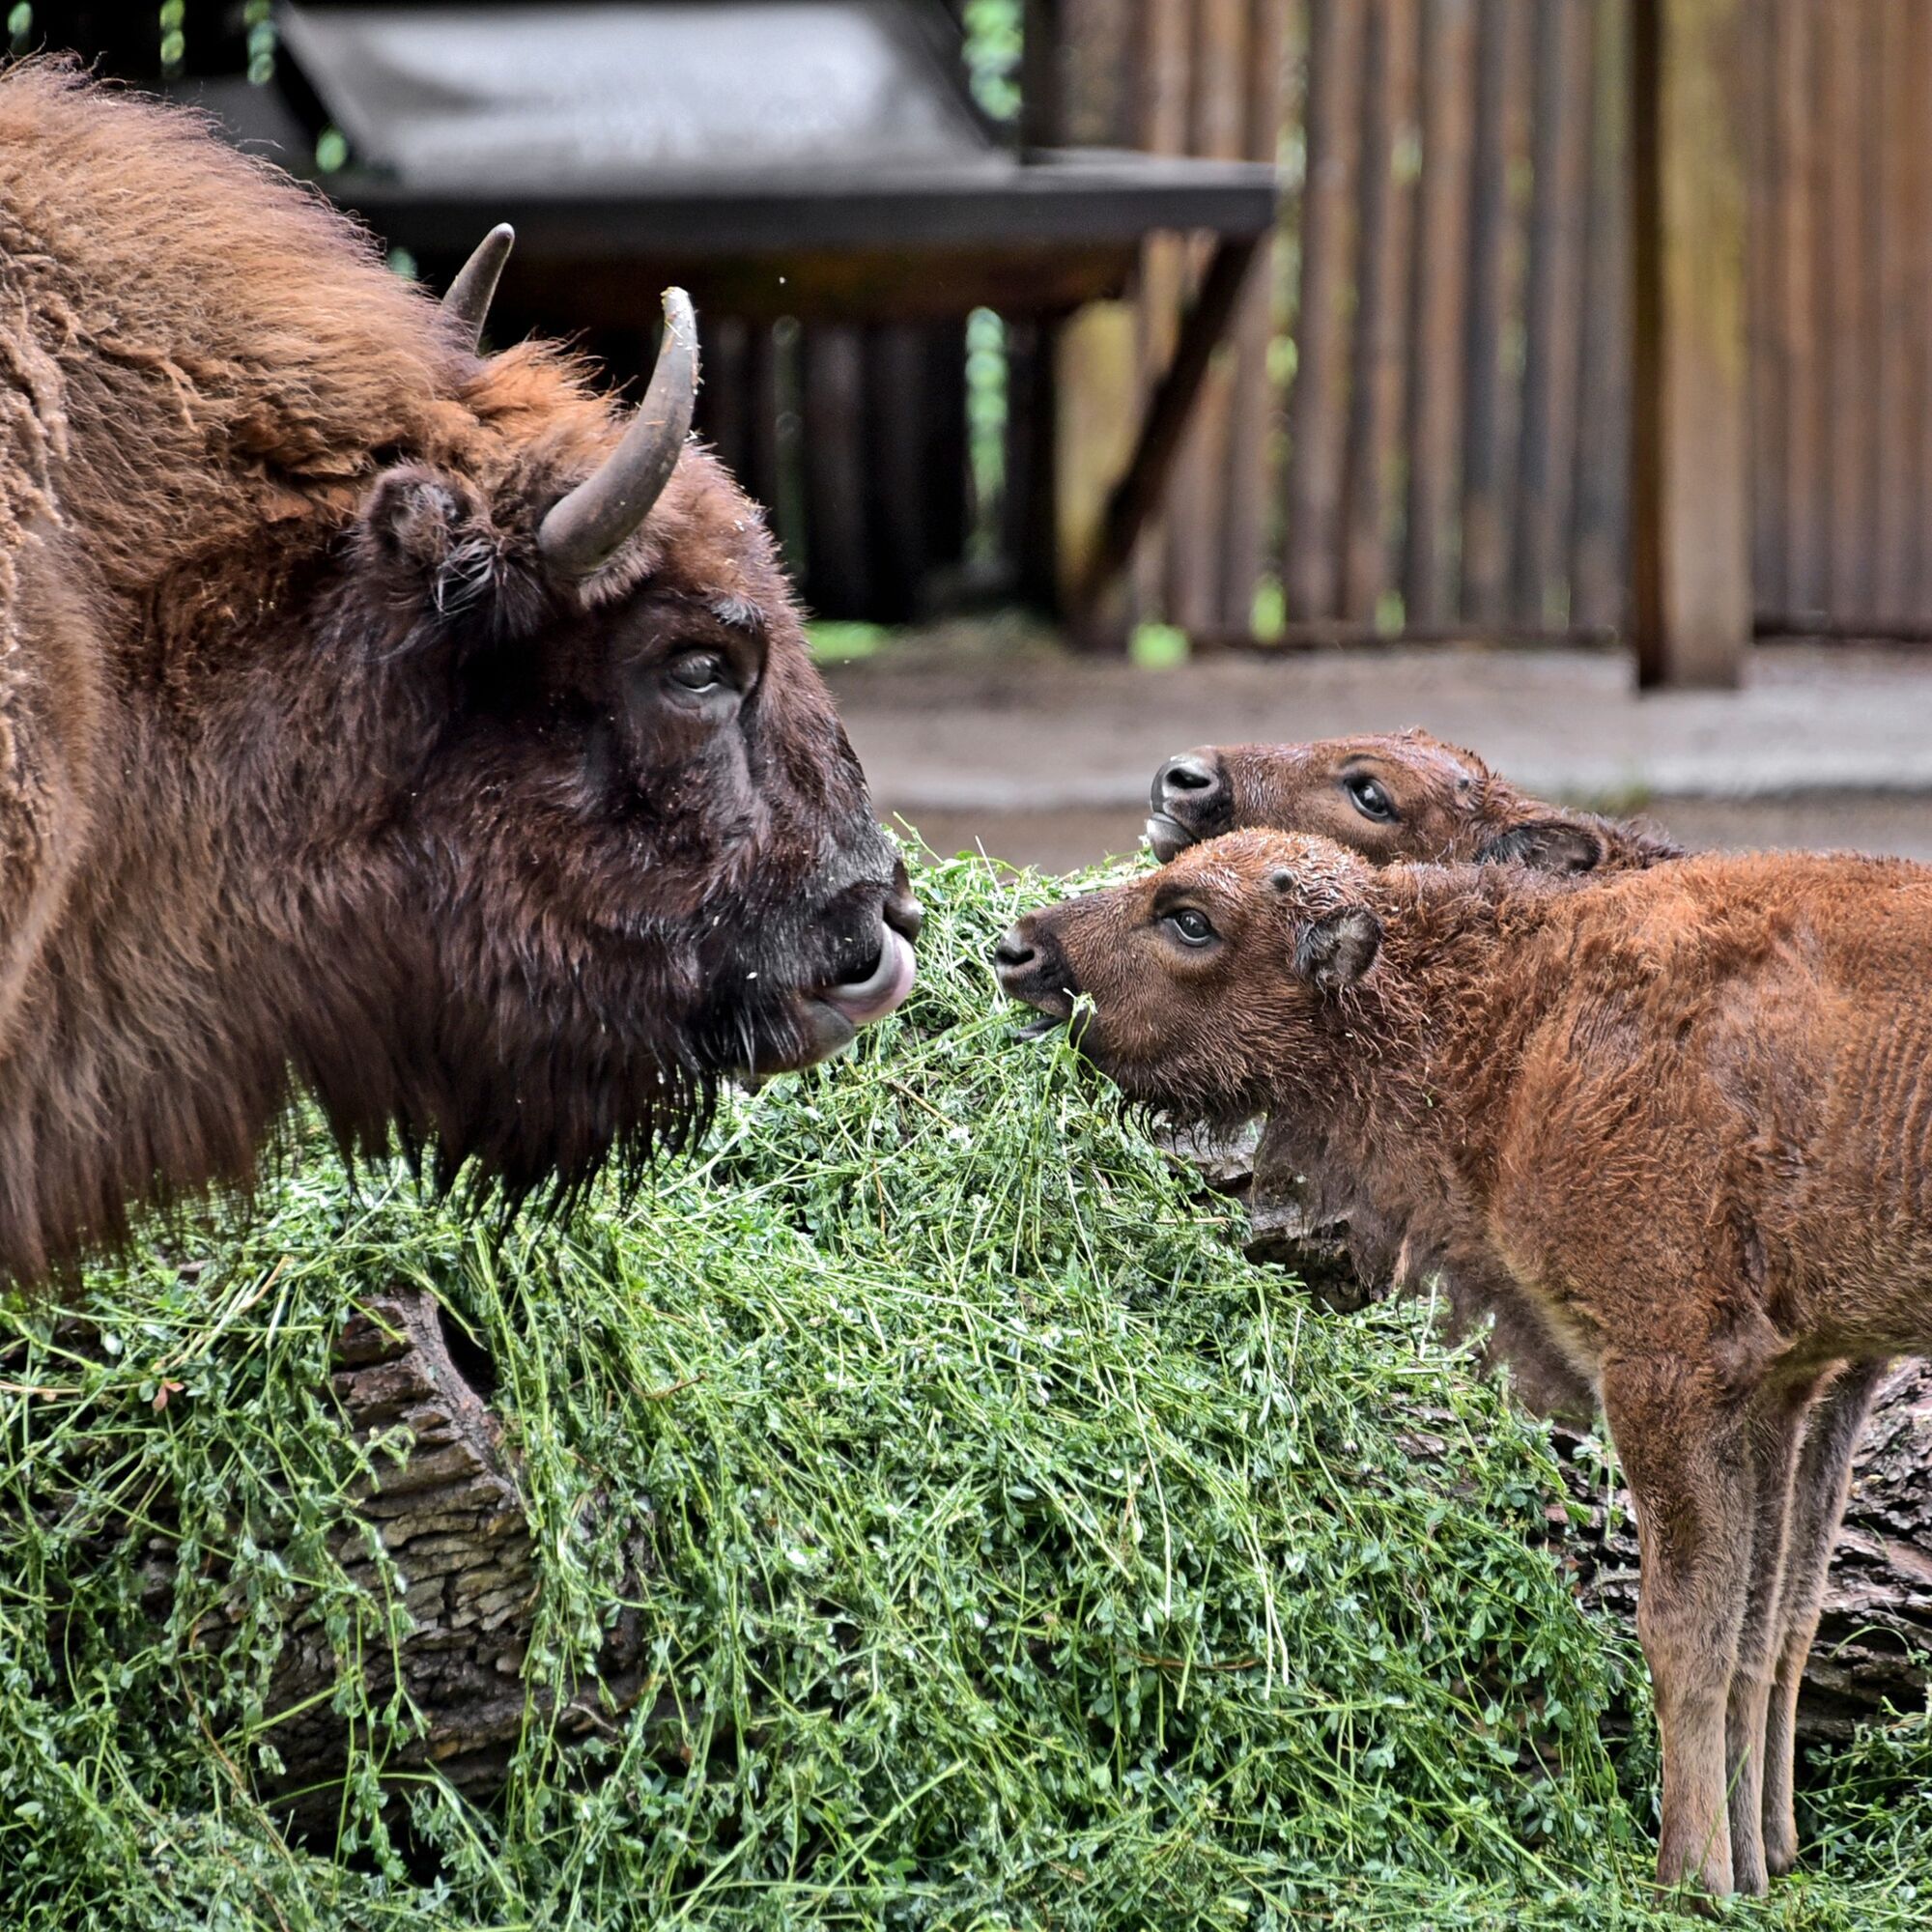
<instances>
[{"instance_id":1,"label":"horned head of the adult bison licking its nose","mask_svg":"<svg viewBox=\"0 0 1932 1932\"><path fill-rule=\"evenodd\" d=\"M410 1024L386 1097L327 1041L313 1084L512 1194L680 1138L719 1078L811 1065L912 983L904 866L757 508L686 440L696 327L665 311L620 433L498 357L495 460L386 469L330 595L400 753L373 860Z\"/></svg>"}]
</instances>

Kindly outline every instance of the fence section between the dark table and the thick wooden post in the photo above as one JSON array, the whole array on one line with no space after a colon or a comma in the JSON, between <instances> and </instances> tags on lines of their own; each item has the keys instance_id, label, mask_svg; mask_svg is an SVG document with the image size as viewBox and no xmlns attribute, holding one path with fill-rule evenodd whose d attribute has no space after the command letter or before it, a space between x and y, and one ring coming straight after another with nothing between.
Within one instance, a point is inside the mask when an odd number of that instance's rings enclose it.
<instances>
[{"instance_id":1,"label":"fence section between the dark table and the thick wooden post","mask_svg":"<svg viewBox=\"0 0 1932 1932\"><path fill-rule=\"evenodd\" d=\"M1291 638L1619 628L1627 0L1088 10L1138 15L1140 58L1124 114L1076 137L1138 122L1279 153L1287 182L1142 609ZM1150 354L1182 272L1150 251Z\"/></svg>"}]
</instances>

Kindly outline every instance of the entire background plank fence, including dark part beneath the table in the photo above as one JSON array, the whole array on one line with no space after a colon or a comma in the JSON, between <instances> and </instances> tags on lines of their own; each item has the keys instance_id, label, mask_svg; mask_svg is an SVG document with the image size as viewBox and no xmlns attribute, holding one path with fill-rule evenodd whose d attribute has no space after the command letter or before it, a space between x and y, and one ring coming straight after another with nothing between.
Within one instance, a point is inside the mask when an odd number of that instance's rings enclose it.
<instances>
[{"instance_id":1,"label":"entire background plank fence, including dark part beneath the table","mask_svg":"<svg viewBox=\"0 0 1932 1932\"><path fill-rule=\"evenodd\" d=\"M1134 614L1289 639L1625 632L1633 8L1677 0L1014 4L1026 139L1283 166ZM33 17L151 73L160 12ZM263 58L265 14L174 10L176 64ZM1932 0L1731 15L1712 108L1743 135L1756 626L1932 636ZM1051 599L1200 265L1161 240L1113 317L1009 325L991 427L964 319L709 315L699 427L821 612L900 618L974 582ZM591 346L620 373L647 348Z\"/></svg>"}]
</instances>

